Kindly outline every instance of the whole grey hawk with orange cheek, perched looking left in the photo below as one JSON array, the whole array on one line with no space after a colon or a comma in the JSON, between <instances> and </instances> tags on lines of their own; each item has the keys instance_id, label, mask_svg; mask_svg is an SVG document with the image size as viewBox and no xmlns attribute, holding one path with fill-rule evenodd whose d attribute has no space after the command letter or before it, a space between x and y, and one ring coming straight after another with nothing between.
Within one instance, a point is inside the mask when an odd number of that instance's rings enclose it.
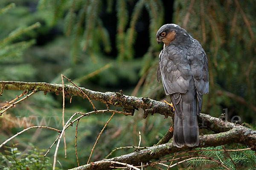
<instances>
[{"instance_id":1,"label":"whole grey hawk with orange cheek, perched looking left","mask_svg":"<svg viewBox=\"0 0 256 170\"><path fill-rule=\"evenodd\" d=\"M198 146L197 115L202 109L203 94L209 92L207 56L198 40L176 24L159 28L157 42L164 43L157 80L160 82L162 77L165 93L170 95L175 109L173 144Z\"/></svg>"}]
</instances>

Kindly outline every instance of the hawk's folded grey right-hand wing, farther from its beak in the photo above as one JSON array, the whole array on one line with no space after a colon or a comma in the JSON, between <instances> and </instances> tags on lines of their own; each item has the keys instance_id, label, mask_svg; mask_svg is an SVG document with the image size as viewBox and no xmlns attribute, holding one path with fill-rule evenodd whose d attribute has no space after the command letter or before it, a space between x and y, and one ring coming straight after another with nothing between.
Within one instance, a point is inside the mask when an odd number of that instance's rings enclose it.
<instances>
[{"instance_id":1,"label":"hawk's folded grey right-hand wing, farther from its beak","mask_svg":"<svg viewBox=\"0 0 256 170\"><path fill-rule=\"evenodd\" d=\"M200 43L195 40L194 50L187 57L190 60L192 77L195 81L195 88L198 99L198 114L202 109L203 94L209 93L209 75L208 75L208 61L204 49Z\"/></svg>"}]
</instances>

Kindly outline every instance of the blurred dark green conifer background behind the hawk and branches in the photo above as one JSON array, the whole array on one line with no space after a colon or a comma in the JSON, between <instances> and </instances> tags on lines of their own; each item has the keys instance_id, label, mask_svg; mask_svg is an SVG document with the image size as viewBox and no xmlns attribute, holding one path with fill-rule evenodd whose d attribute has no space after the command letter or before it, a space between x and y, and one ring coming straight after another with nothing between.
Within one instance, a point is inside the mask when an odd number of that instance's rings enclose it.
<instances>
[{"instance_id":1,"label":"blurred dark green conifer background behind the hawk and branches","mask_svg":"<svg viewBox=\"0 0 256 170\"><path fill-rule=\"evenodd\" d=\"M93 91L119 91L170 102L157 82L156 32L175 23L201 42L209 64L209 94L202 113L256 125L256 1L253 0L1 0L0 80L61 84L61 74ZM69 84L67 81L66 84ZM22 91L3 91L0 106ZM106 106L93 101L98 110ZM114 108L114 107L112 107ZM115 109L115 108L114 108ZM119 108L120 109L120 108ZM65 120L78 111L92 111L78 96L66 98ZM0 143L32 125L62 129L62 96L38 92L0 117ZM77 147L86 164L96 138L111 113L81 119ZM234 116L236 116L234 118ZM238 117L239 116L239 117ZM152 146L169 129L171 118L155 114L143 119L115 115L93 152L101 160L115 147ZM26 118L26 119L23 119ZM239 119L241 118L241 119ZM58 168L76 167L76 127L66 131L58 151ZM202 131L202 133L204 133ZM29 130L7 146L26 153L31 144L48 149L57 133ZM31 143L31 144L29 144ZM0 152L5 149L0 148ZM55 146L47 155L53 158ZM117 150L111 156L133 152ZM49 162L51 162L50 160Z\"/></svg>"}]
</instances>

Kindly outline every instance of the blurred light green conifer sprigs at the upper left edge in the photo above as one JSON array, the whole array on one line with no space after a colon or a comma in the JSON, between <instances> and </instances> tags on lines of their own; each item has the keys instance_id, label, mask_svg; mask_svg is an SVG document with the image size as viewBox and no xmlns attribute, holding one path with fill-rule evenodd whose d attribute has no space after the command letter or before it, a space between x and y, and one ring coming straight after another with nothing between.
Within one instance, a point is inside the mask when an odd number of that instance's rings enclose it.
<instances>
[{"instance_id":1,"label":"blurred light green conifer sprigs at the upper left edge","mask_svg":"<svg viewBox=\"0 0 256 170\"><path fill-rule=\"evenodd\" d=\"M0 79L10 79L12 77L13 80L21 81L24 78L32 77L34 72L31 65L23 62L23 53L27 48L35 44L35 40L24 41L23 39L29 33L31 34L32 30L40 27L41 24L38 22L31 26L23 24L23 26L16 28L14 31L8 32L8 25L6 27L6 23L10 19L8 17L8 11L14 10L13 8L15 8L15 4L11 3L0 11L0 20L2 22L0 31L6 33L6 35L0 35L0 67L2 71ZM9 63L16 64L16 67L14 68Z\"/></svg>"}]
</instances>

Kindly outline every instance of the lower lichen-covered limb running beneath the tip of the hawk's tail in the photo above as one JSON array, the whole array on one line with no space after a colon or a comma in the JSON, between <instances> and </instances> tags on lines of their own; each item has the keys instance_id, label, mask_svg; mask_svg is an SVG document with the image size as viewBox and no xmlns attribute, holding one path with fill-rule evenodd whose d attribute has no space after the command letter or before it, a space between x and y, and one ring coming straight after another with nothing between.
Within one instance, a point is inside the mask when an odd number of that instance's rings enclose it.
<instances>
[{"instance_id":1,"label":"lower lichen-covered limb running beneath the tip of the hawk's tail","mask_svg":"<svg viewBox=\"0 0 256 170\"><path fill-rule=\"evenodd\" d=\"M201 114L201 116L203 115ZM215 118L215 120L216 119L218 118ZM219 145L230 144L235 142L235 143L247 144L248 146L252 147L252 149L255 149L255 146L254 146L256 144L255 130L251 130L241 125L231 125L232 123L229 123L229 122L226 122L226 124L230 124L230 126L233 128L227 132L200 136L200 144L198 147L219 146ZM173 145L172 142L170 142L170 143L150 147L144 150L140 150L137 152L129 153L126 155L122 155L119 157L92 162L90 164L73 168L72 170L113 169L113 168L110 168L111 165L113 166L113 164L110 164L108 161L118 161L118 162L132 164L136 166L136 165L140 165L141 162L146 163L152 159L157 159L171 153L179 152L182 150L188 150L188 149L191 149L191 147L177 148Z\"/></svg>"}]
</instances>

